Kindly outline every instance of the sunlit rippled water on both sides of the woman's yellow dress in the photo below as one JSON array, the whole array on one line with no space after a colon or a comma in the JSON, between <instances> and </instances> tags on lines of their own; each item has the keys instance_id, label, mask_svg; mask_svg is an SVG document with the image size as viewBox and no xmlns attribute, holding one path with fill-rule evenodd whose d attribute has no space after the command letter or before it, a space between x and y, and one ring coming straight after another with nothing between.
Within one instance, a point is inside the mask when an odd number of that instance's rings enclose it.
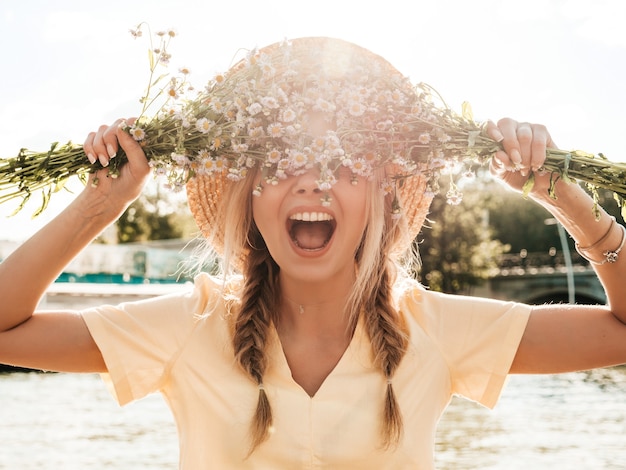
<instances>
[{"instance_id":1,"label":"sunlit rippled water on both sides of the woman's yellow dress","mask_svg":"<svg viewBox=\"0 0 626 470\"><path fill-rule=\"evenodd\" d=\"M176 469L160 396L118 407L96 375L0 374L0 468ZM453 400L437 468L625 469L626 369L512 376L492 411Z\"/></svg>"}]
</instances>

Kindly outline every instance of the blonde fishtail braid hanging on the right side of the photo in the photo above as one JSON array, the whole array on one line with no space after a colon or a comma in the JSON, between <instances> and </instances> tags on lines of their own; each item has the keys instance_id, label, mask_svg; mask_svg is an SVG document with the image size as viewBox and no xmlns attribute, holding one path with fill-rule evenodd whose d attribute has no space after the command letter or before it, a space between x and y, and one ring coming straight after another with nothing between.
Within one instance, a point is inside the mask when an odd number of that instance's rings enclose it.
<instances>
[{"instance_id":1,"label":"blonde fishtail braid hanging on the right side of the photo","mask_svg":"<svg viewBox=\"0 0 626 470\"><path fill-rule=\"evenodd\" d=\"M406 325L392 305L390 267L380 258L378 289L365 305L365 325L374 352L374 363L387 379L383 413L383 447L397 445L402 435L402 414L391 379L408 347Z\"/></svg>"}]
</instances>

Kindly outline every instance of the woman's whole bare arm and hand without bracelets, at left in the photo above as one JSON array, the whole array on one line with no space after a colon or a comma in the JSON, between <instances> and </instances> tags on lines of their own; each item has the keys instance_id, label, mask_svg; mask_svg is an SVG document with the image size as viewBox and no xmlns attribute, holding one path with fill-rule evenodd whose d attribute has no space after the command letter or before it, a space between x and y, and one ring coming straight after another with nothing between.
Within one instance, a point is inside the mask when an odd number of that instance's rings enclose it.
<instances>
[{"instance_id":1,"label":"woman's whole bare arm and hand without bracelets, at left","mask_svg":"<svg viewBox=\"0 0 626 470\"><path fill-rule=\"evenodd\" d=\"M118 120L87 137L92 161L108 165L121 145L128 164L118 178L91 175L80 195L0 264L0 362L48 370L102 371L102 357L73 312L35 313L65 266L140 194L149 174L141 147ZM94 179L97 178L97 184Z\"/></svg>"}]
</instances>

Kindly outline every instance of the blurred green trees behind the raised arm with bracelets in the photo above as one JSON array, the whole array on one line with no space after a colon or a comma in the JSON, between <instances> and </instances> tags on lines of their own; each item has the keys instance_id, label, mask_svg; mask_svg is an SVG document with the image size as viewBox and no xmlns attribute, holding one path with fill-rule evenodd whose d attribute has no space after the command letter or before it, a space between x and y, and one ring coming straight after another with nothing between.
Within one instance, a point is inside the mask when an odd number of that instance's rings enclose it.
<instances>
[{"instance_id":1,"label":"blurred green trees behind the raised arm with bracelets","mask_svg":"<svg viewBox=\"0 0 626 470\"><path fill-rule=\"evenodd\" d=\"M621 219L621 199L609 190L583 188L599 206ZM523 193L509 190L488 174L479 174L462 190L463 201L456 206L441 196L435 198L429 215L432 223L418 238L422 258L418 277L432 290L470 293L472 286L497 273L499 258L507 252L562 250L558 231L545 223L552 215ZM569 243L575 256L573 240Z\"/></svg>"}]
</instances>

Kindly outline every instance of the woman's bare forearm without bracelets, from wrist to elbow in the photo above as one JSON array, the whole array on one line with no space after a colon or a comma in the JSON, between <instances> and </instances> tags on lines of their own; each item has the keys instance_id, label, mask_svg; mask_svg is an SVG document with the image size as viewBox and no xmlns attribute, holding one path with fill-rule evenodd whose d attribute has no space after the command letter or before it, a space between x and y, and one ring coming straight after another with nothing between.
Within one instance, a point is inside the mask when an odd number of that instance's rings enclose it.
<instances>
[{"instance_id":1,"label":"woman's bare forearm without bracelets, from wrist to elbow","mask_svg":"<svg viewBox=\"0 0 626 470\"><path fill-rule=\"evenodd\" d=\"M0 331L28 320L48 286L123 210L86 193L0 263Z\"/></svg>"}]
</instances>

